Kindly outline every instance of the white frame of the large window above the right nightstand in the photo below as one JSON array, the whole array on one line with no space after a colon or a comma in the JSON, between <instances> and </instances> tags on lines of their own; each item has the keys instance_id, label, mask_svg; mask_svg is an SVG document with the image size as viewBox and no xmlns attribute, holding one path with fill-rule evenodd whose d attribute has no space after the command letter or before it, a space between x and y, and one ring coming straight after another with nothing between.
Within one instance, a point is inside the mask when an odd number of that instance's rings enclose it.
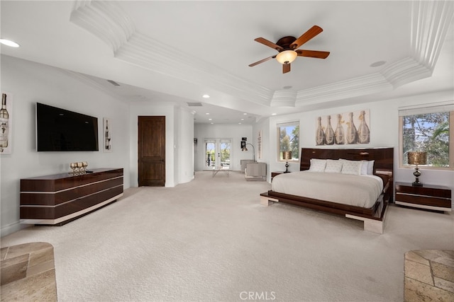
<instances>
[{"instance_id":1,"label":"white frame of the large window above the right nightstand","mask_svg":"<svg viewBox=\"0 0 454 302\"><path fill-rule=\"evenodd\" d=\"M449 167L434 167L431 165L419 165L419 167L424 170L454 170L454 109L450 108L450 106L448 106L449 110L433 110L433 108L436 107L417 108L417 112L406 114L401 114L399 110L399 168L414 169L414 165L404 165L404 116L423 115L431 112L449 112ZM424 112L424 109L426 109L427 112Z\"/></svg>"}]
</instances>

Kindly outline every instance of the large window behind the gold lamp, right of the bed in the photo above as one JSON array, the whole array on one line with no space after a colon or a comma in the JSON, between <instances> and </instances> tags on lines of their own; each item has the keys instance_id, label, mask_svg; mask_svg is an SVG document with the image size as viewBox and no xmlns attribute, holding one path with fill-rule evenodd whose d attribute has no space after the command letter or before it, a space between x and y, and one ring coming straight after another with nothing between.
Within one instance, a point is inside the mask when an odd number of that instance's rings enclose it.
<instances>
[{"instance_id":1,"label":"large window behind the gold lamp, right of the bed","mask_svg":"<svg viewBox=\"0 0 454 302\"><path fill-rule=\"evenodd\" d=\"M425 151L424 168L454 169L454 105L399 110L400 166L409 151Z\"/></svg>"}]
</instances>

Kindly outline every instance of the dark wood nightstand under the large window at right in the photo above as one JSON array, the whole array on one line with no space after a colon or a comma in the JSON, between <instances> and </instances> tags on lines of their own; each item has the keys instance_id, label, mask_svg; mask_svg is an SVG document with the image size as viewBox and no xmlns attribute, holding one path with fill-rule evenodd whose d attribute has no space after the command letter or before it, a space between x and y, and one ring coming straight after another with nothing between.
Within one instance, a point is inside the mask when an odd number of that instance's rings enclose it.
<instances>
[{"instance_id":1,"label":"dark wood nightstand under the large window at right","mask_svg":"<svg viewBox=\"0 0 454 302\"><path fill-rule=\"evenodd\" d=\"M451 190L441 185L416 187L411 183L396 182L396 204L406 207L451 211Z\"/></svg>"}]
</instances>

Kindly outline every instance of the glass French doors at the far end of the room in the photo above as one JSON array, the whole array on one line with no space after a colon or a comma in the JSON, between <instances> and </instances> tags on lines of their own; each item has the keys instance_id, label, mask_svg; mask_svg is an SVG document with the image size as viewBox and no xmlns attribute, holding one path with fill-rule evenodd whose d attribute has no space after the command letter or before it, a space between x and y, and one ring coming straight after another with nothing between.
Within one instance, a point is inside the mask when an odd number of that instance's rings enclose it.
<instances>
[{"instance_id":1,"label":"glass French doors at the far end of the room","mask_svg":"<svg viewBox=\"0 0 454 302\"><path fill-rule=\"evenodd\" d=\"M205 139L205 168L230 169L231 139Z\"/></svg>"}]
</instances>

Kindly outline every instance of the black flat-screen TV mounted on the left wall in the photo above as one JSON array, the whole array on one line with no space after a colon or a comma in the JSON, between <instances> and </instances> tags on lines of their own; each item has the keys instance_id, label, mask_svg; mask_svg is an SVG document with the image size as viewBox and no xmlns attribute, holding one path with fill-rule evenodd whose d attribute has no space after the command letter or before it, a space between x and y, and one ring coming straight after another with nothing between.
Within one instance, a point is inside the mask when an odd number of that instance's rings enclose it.
<instances>
[{"instance_id":1,"label":"black flat-screen TV mounted on the left wall","mask_svg":"<svg viewBox=\"0 0 454 302\"><path fill-rule=\"evenodd\" d=\"M98 151L98 119L36 103L37 151Z\"/></svg>"}]
</instances>

